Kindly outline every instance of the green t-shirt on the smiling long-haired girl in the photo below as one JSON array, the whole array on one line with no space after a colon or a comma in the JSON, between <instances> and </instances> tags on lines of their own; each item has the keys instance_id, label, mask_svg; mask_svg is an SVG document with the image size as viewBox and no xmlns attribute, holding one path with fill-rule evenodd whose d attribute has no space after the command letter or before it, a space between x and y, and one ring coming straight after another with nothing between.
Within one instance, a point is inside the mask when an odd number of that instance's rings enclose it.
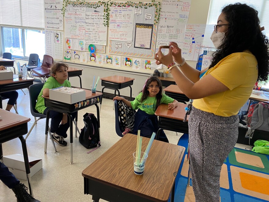
<instances>
[{"instance_id":1,"label":"green t-shirt on the smiling long-haired girl","mask_svg":"<svg viewBox=\"0 0 269 202\"><path fill-rule=\"evenodd\" d=\"M174 101L173 98L165 95L164 93L162 94L162 98L161 98L161 103L164 104L168 104L168 103L172 103ZM147 114L154 114L156 111L156 104L157 104L157 98L156 97L147 97L147 99L145 99L143 101L143 103L140 102L142 97L142 92L139 93L136 97L134 101L131 101L131 105L132 108L134 110L137 110L138 108L144 112L146 112Z\"/></svg>"}]
</instances>

